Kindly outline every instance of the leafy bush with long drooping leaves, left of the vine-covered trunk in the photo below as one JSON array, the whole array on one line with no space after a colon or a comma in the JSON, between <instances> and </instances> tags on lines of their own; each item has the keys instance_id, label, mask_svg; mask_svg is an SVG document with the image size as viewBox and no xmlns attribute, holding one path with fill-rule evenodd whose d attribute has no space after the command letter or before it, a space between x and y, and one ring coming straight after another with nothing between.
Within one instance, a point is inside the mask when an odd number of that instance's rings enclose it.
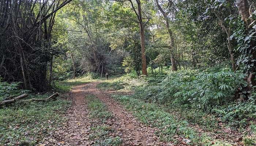
<instances>
[{"instance_id":1,"label":"leafy bush with long drooping leaves, left of the vine-covered trunk","mask_svg":"<svg viewBox=\"0 0 256 146\"><path fill-rule=\"evenodd\" d=\"M233 100L235 90L243 81L244 74L231 71L220 71L216 73L202 72L194 80L185 80L181 83L181 91L174 94L176 103L193 104L199 103L204 108L221 105Z\"/></svg>"}]
</instances>

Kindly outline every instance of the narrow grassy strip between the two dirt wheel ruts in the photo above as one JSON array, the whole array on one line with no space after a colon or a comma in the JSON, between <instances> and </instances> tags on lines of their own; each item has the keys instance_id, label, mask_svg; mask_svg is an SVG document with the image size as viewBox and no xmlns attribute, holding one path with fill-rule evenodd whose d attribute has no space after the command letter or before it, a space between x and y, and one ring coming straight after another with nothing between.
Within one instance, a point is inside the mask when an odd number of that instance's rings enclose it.
<instances>
[{"instance_id":1,"label":"narrow grassy strip between the two dirt wheel ruts","mask_svg":"<svg viewBox=\"0 0 256 146\"><path fill-rule=\"evenodd\" d=\"M107 124L106 120L112 118L111 112L108 111L106 105L101 102L96 96L86 96L88 101L88 109L90 118L97 120L90 127L91 134L89 139L93 146L119 146L122 144L120 137L110 136L110 133L114 133L114 130L110 125Z\"/></svg>"}]
</instances>

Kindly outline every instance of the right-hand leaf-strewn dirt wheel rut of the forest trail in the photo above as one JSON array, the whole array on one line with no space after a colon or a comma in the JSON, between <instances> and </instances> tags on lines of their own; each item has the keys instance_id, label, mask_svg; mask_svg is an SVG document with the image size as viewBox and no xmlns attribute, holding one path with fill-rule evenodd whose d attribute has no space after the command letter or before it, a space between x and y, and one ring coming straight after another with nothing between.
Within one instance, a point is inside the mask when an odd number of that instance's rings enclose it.
<instances>
[{"instance_id":1,"label":"right-hand leaf-strewn dirt wheel rut of the forest trail","mask_svg":"<svg viewBox=\"0 0 256 146\"><path fill-rule=\"evenodd\" d=\"M112 112L112 121L114 121L112 127L115 128L117 135L123 139L123 145L164 145L162 142L159 142L158 137L154 135L156 129L144 126L141 122L136 120L122 105L114 101L109 93L102 92L96 88L97 84L99 84L99 82L87 84L89 86L87 93L95 95L105 103L108 110Z\"/></svg>"}]
</instances>

